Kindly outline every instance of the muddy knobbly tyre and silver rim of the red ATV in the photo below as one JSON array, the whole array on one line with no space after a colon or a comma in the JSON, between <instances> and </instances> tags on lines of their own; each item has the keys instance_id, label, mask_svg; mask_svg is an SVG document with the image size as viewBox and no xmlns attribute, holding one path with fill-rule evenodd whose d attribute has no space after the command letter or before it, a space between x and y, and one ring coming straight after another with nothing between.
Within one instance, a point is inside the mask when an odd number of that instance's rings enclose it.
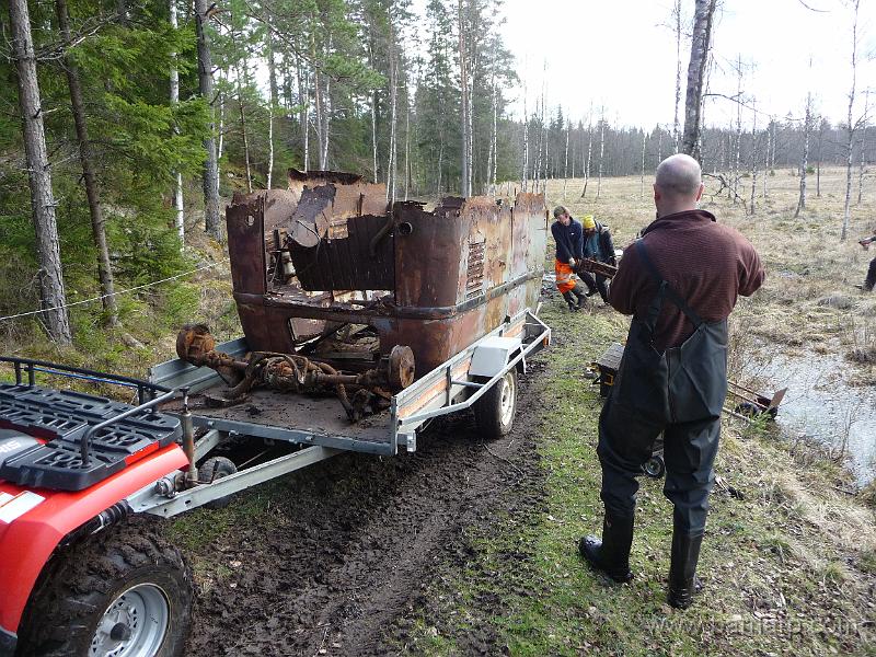
<instances>
[{"instance_id":1,"label":"muddy knobbly tyre and silver rim of the red ATV","mask_svg":"<svg viewBox=\"0 0 876 657\"><path fill-rule=\"evenodd\" d=\"M140 525L57 554L28 602L20 655L175 657L192 623L192 575Z\"/></svg>"}]
</instances>

